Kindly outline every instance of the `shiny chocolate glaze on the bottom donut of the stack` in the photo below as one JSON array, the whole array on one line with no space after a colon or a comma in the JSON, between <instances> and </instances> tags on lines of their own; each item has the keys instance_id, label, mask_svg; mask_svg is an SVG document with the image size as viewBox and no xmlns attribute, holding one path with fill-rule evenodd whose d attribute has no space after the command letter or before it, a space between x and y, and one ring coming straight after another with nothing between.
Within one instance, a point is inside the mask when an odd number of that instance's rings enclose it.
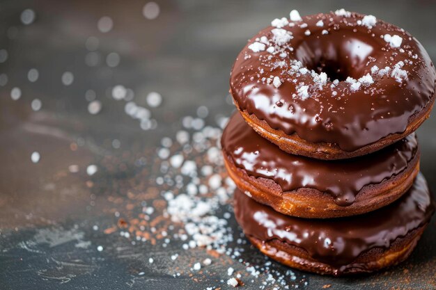
<instances>
[{"instance_id":1,"label":"shiny chocolate glaze on the bottom donut of the stack","mask_svg":"<svg viewBox=\"0 0 436 290\"><path fill-rule=\"evenodd\" d=\"M286 216L235 191L235 217L249 236L279 239L306 250L310 257L332 266L345 266L372 248L387 249L397 238L428 223L435 202L423 175L389 206L361 216L330 220Z\"/></svg>"}]
</instances>

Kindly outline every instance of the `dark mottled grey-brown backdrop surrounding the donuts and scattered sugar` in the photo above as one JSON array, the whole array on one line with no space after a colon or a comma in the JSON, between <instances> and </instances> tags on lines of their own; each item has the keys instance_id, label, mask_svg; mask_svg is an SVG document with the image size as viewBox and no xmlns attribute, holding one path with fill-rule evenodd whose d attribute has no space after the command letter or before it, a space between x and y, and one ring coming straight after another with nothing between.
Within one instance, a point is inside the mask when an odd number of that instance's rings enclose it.
<instances>
[{"instance_id":1,"label":"dark mottled grey-brown backdrop surrounding the donuts and scattered sugar","mask_svg":"<svg viewBox=\"0 0 436 290\"><path fill-rule=\"evenodd\" d=\"M338 8L373 14L410 31L436 60L436 1L157 1L161 12L154 20L141 13L146 2L1 1L0 49L8 51L8 60L0 63L0 74L8 75L8 83L0 87L1 289L226 289L219 280L228 279L228 266L216 265L199 282L188 276L176 279L167 274L171 263L146 262L150 252L164 255L162 248L133 246L92 226L116 223L109 198L144 174L134 169L133 156L154 152L162 136L173 136L180 128L182 116L195 115L201 105L210 110L210 124L216 115L231 114L233 106L225 99L233 60L247 39L275 17L286 17L292 9L302 15ZM36 12L29 26L20 22L26 8ZM109 33L97 28L105 15L114 20ZM95 67L84 62L89 36L100 40L102 60ZM120 55L116 68L104 63L110 52ZM36 83L26 77L32 67L40 73ZM72 86L61 83L65 71L75 75ZM119 83L134 90L139 104L145 104L147 92L162 94L164 104L153 110L157 129L142 131L110 98L110 88ZM22 90L17 102L10 99L15 86ZM98 115L87 111L84 95L90 88L103 104ZM42 110L33 112L30 104L36 97ZM434 116L419 129L421 170L433 191L435 129ZM119 150L110 145L114 138L120 140ZM84 145L72 152L70 144L82 140ZM36 165L30 162L33 151L42 156ZM72 163L86 168L104 162L115 169L100 172L92 188L83 172L65 175ZM127 170L117 170L120 163ZM240 234L234 221L232 226ZM296 273L309 282L306 289L325 284L332 284L330 289L436 289L435 234L433 218L412 257L386 272L341 279ZM75 247L82 239L92 243L91 249ZM96 245L123 250L100 253ZM192 251L198 259L204 255ZM247 261L263 259L252 248L244 255ZM275 263L274 269L285 271ZM139 277L138 271L146 275Z\"/></svg>"}]
</instances>

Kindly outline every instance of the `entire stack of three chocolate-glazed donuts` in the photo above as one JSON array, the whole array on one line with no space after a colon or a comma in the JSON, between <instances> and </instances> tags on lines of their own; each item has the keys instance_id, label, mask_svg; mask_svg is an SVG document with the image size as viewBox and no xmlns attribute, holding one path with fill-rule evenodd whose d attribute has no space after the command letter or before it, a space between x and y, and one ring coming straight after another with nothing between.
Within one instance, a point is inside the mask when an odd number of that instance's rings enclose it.
<instances>
[{"instance_id":1,"label":"entire stack of three chocolate-glazed donuts","mask_svg":"<svg viewBox=\"0 0 436 290\"><path fill-rule=\"evenodd\" d=\"M320 274L406 259L435 209L414 131L436 70L404 29L343 9L274 19L231 72L221 138L251 243Z\"/></svg>"}]
</instances>

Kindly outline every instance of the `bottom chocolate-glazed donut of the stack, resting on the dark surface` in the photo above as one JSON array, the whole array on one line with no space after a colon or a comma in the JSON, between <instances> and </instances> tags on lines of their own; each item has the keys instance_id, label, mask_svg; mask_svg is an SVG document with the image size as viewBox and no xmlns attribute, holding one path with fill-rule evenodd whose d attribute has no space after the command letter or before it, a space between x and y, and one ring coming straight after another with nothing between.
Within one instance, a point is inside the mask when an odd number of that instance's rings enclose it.
<instances>
[{"instance_id":1,"label":"bottom chocolate-glazed donut of the stack, resting on the dark surface","mask_svg":"<svg viewBox=\"0 0 436 290\"><path fill-rule=\"evenodd\" d=\"M235 217L265 255L287 266L325 275L368 273L405 260L435 210L418 175L400 200L368 214L306 220L279 214L235 192Z\"/></svg>"}]
</instances>

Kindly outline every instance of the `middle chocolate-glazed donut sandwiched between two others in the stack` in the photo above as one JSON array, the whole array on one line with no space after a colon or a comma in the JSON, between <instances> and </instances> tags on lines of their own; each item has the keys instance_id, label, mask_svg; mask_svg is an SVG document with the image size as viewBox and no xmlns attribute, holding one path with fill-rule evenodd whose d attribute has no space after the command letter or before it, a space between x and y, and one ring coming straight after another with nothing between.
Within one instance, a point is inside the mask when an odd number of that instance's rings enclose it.
<instances>
[{"instance_id":1,"label":"middle chocolate-glazed donut sandwiched between two others in the stack","mask_svg":"<svg viewBox=\"0 0 436 290\"><path fill-rule=\"evenodd\" d=\"M235 113L221 146L228 174L238 188L282 214L302 218L379 209L400 198L419 172L414 133L367 156L323 161L281 151Z\"/></svg>"}]
</instances>

